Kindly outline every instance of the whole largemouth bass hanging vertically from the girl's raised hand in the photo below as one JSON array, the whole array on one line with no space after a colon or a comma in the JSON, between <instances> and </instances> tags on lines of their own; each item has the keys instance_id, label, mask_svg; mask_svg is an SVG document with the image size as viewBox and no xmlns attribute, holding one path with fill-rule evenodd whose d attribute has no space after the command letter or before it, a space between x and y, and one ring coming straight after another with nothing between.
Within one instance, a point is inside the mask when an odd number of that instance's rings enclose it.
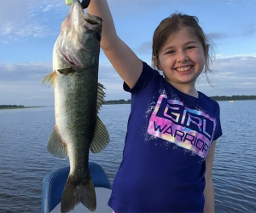
<instances>
[{"instance_id":1,"label":"whole largemouth bass hanging vertically from the girl's raised hand","mask_svg":"<svg viewBox=\"0 0 256 213\"><path fill-rule=\"evenodd\" d=\"M90 1L89 1L90 2ZM74 0L53 50L53 72L43 79L55 89L55 127L47 149L58 158L69 157L70 173L61 198L61 212L80 202L96 210L95 187L88 169L89 150L108 145L108 130L97 116L105 93L98 83L102 19L84 14Z\"/></svg>"}]
</instances>

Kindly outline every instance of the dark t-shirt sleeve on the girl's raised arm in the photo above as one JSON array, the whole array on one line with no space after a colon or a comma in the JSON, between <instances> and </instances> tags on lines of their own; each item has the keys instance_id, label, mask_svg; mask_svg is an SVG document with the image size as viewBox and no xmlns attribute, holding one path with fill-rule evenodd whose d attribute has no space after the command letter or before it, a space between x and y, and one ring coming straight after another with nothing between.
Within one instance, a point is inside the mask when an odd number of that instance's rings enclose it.
<instances>
[{"instance_id":1,"label":"dark t-shirt sleeve on the girl's raised arm","mask_svg":"<svg viewBox=\"0 0 256 213\"><path fill-rule=\"evenodd\" d=\"M143 72L138 78L137 83L130 89L130 87L124 82L123 89L131 94L137 94L141 90L145 89L148 86L148 83L157 75L160 75L160 73L143 61Z\"/></svg>"}]
</instances>

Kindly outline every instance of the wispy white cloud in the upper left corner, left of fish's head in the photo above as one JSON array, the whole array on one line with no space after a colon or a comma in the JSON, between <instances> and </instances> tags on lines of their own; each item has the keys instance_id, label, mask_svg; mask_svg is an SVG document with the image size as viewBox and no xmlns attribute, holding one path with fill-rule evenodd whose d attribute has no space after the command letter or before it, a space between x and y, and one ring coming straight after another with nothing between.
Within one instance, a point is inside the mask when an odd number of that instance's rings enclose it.
<instances>
[{"instance_id":1,"label":"wispy white cloud in the upper left corner, left of fish's head","mask_svg":"<svg viewBox=\"0 0 256 213\"><path fill-rule=\"evenodd\" d=\"M55 13L49 13L53 9ZM67 7L58 0L5 1L0 8L0 43L10 43L30 36L45 37L55 34L44 22L51 20L56 14L61 14L63 10L67 10ZM48 12L48 17L44 18L40 12Z\"/></svg>"}]
</instances>

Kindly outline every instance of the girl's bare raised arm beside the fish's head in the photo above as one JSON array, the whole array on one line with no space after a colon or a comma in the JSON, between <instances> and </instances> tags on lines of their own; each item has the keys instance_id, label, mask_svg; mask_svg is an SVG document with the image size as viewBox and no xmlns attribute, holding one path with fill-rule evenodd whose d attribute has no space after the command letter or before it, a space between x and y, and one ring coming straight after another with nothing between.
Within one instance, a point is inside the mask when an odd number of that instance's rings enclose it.
<instances>
[{"instance_id":1,"label":"girl's bare raised arm beside the fish's head","mask_svg":"<svg viewBox=\"0 0 256 213\"><path fill-rule=\"evenodd\" d=\"M90 0L87 11L102 18L101 47L119 76L132 88L143 71L143 62L118 37L107 0Z\"/></svg>"}]
</instances>

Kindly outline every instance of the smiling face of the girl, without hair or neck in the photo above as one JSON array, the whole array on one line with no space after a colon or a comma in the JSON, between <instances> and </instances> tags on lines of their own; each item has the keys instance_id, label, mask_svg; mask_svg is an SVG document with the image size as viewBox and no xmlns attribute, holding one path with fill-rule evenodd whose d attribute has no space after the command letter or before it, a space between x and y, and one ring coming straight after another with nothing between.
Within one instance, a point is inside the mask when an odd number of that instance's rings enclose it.
<instances>
[{"instance_id":1,"label":"smiling face of the girl, without hair or neck","mask_svg":"<svg viewBox=\"0 0 256 213\"><path fill-rule=\"evenodd\" d=\"M205 53L198 39L184 28L166 40L159 62L169 83L194 85L204 68Z\"/></svg>"}]
</instances>

